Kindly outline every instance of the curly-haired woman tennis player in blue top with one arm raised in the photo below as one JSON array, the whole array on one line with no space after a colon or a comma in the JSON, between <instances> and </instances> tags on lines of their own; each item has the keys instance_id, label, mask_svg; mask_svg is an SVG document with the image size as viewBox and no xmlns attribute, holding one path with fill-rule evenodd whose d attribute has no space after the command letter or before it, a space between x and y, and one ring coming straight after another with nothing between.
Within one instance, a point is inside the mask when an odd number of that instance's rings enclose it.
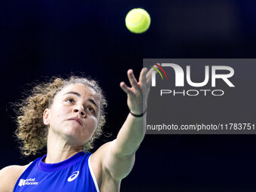
<instances>
[{"instance_id":1,"label":"curly-haired woman tennis player in blue top with one arm raised","mask_svg":"<svg viewBox=\"0 0 256 192\"><path fill-rule=\"evenodd\" d=\"M96 81L72 76L53 78L35 86L20 103L16 135L24 155L47 146L47 154L26 166L0 171L1 192L117 192L133 169L136 150L145 136L151 72L142 69L139 81L128 70L130 114L117 138L91 154L94 139L102 134L106 100ZM117 114L118 115L118 112ZM143 126L144 125L144 126Z\"/></svg>"}]
</instances>

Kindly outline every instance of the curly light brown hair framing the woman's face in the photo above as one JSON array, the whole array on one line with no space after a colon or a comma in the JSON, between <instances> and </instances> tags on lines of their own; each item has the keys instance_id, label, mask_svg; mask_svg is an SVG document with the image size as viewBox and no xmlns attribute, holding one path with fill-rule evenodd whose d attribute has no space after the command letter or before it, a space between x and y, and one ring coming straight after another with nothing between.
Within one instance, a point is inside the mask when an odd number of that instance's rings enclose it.
<instances>
[{"instance_id":1,"label":"curly light brown hair framing the woman's face","mask_svg":"<svg viewBox=\"0 0 256 192\"><path fill-rule=\"evenodd\" d=\"M100 117L96 133L93 136L93 142L102 135L102 126L105 124L105 107L107 101L99 84L89 78L71 76L68 79L53 77L49 82L43 82L35 85L28 96L16 103L17 108L17 130L15 135L20 141L20 151L29 156L36 154L47 145L48 126L44 125L43 113L45 108L50 108L53 99L60 90L69 84L85 84L96 90L100 101ZM93 142L87 142L84 145L84 151L93 148Z\"/></svg>"}]
</instances>

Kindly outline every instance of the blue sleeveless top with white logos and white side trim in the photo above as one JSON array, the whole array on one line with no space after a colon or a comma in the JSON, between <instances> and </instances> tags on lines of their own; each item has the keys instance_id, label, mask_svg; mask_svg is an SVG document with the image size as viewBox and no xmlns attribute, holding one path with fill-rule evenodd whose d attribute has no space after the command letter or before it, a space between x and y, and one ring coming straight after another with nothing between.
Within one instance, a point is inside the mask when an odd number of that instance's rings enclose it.
<instances>
[{"instance_id":1,"label":"blue sleeveless top with white logos and white side trim","mask_svg":"<svg viewBox=\"0 0 256 192\"><path fill-rule=\"evenodd\" d=\"M99 192L90 153L75 154L60 163L44 163L44 157L34 160L14 186L14 192Z\"/></svg>"}]
</instances>

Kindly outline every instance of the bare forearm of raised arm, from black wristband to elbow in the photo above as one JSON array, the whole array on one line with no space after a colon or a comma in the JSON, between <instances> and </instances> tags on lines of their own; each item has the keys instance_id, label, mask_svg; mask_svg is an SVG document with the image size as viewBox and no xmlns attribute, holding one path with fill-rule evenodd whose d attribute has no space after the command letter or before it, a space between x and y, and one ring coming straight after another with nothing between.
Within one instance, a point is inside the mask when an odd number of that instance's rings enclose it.
<instances>
[{"instance_id":1,"label":"bare forearm of raised arm, from black wristband to elbow","mask_svg":"<svg viewBox=\"0 0 256 192\"><path fill-rule=\"evenodd\" d=\"M116 153L119 157L127 157L136 152L145 136L146 114L134 117L128 114L115 141Z\"/></svg>"}]
</instances>

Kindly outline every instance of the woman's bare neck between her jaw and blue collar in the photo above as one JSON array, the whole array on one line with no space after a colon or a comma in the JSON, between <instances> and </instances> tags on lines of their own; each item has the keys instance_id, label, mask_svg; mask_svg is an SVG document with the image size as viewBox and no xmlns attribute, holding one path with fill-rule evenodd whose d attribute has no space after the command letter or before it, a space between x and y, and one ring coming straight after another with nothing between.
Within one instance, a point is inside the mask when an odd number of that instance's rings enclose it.
<instances>
[{"instance_id":1,"label":"woman's bare neck between her jaw and blue collar","mask_svg":"<svg viewBox=\"0 0 256 192\"><path fill-rule=\"evenodd\" d=\"M56 136L49 129L47 138L47 157L44 160L44 163L59 163L69 159L78 152L83 151L83 149L83 146L74 146L67 142L66 139Z\"/></svg>"}]
</instances>

